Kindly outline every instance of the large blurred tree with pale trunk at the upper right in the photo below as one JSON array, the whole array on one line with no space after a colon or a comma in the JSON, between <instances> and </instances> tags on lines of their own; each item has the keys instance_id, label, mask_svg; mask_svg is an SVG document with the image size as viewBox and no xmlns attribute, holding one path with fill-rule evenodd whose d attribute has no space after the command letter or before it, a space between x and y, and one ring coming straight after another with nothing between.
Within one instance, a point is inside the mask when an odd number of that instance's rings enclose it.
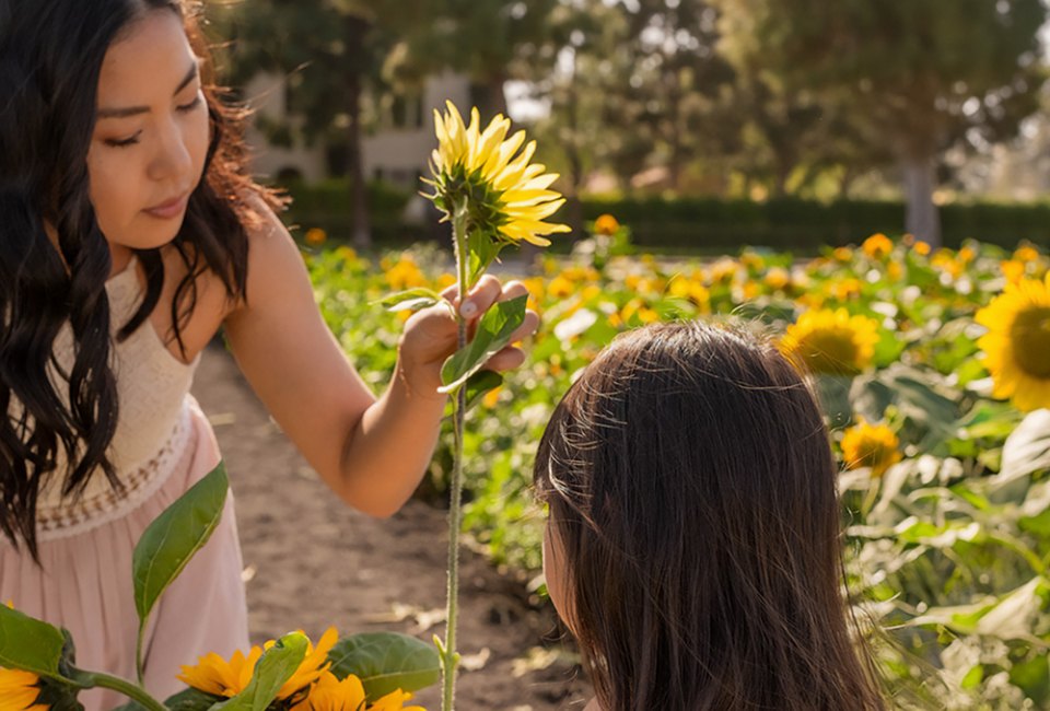
<instances>
[{"instance_id":1,"label":"large blurred tree with pale trunk at the upper right","mask_svg":"<svg viewBox=\"0 0 1050 711\"><path fill-rule=\"evenodd\" d=\"M906 229L940 244L936 160L996 142L1038 106L1041 0L712 0L728 56L789 90L849 95L891 147Z\"/></svg>"}]
</instances>

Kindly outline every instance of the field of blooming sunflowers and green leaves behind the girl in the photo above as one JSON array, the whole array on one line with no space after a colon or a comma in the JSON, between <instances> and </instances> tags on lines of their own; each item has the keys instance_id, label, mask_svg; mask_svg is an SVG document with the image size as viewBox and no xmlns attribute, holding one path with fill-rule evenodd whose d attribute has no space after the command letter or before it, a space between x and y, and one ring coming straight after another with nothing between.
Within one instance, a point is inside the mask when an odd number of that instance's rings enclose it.
<instances>
[{"instance_id":1,"label":"field of blooming sunflowers and green leaves behind the girl","mask_svg":"<svg viewBox=\"0 0 1050 711\"><path fill-rule=\"evenodd\" d=\"M931 252L876 234L808 259L746 248L667 261L617 256L627 228L603 220L590 249L500 275L525 282L542 326L525 365L468 413L475 544L535 576L536 443L573 374L617 334L657 319L746 320L812 373L822 401L850 594L887 693L900 708L1050 708L1047 254L978 242ZM375 263L314 240L306 259L329 327L373 388L393 371L407 318L375 302L454 280L433 248ZM439 451L424 490L442 490L450 467Z\"/></svg>"}]
</instances>

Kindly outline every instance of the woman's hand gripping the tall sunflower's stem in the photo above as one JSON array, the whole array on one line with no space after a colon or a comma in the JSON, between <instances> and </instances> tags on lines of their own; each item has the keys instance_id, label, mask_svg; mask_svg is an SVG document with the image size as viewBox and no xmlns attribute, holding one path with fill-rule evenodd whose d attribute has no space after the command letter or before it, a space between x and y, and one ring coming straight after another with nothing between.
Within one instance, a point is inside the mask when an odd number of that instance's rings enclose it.
<instances>
[{"instance_id":1,"label":"woman's hand gripping the tall sunflower's stem","mask_svg":"<svg viewBox=\"0 0 1050 711\"><path fill-rule=\"evenodd\" d=\"M458 308L467 320L468 334L472 334L478 319L492 304L524 296L528 291L520 281L509 281L502 285L491 275L485 275L467 294L466 302L459 303L457 288L450 287L442 295L448 303L438 304L419 311L405 323L398 346L398 372L409 389L418 397L443 399L438 392L441 387L441 366L445 359L458 348L458 326L452 310ZM536 333L539 315L534 311L525 312L524 323L514 331L510 346L493 354L485 364L492 371L513 370L525 362L525 352L513 343Z\"/></svg>"}]
</instances>

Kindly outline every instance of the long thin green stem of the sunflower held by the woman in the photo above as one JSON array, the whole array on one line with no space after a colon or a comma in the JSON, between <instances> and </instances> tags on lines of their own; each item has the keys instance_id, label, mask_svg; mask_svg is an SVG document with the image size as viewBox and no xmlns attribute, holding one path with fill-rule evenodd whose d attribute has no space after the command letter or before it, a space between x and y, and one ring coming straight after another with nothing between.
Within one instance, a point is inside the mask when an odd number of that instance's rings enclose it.
<instances>
[{"instance_id":1,"label":"long thin green stem of the sunflower held by the woman","mask_svg":"<svg viewBox=\"0 0 1050 711\"><path fill-rule=\"evenodd\" d=\"M456 271L458 277L459 304L467 298L467 268L469 254L467 249L468 213L466 200L454 206L452 233L456 248ZM467 345L467 323L456 313L458 322L458 348ZM443 695L441 708L443 711L455 709L456 692L456 618L459 613L459 528L463 525L460 503L463 499L463 424L467 409L467 388L460 385L456 388L453 399L453 467L450 482L448 505L448 601L445 611L445 650L442 666Z\"/></svg>"}]
</instances>

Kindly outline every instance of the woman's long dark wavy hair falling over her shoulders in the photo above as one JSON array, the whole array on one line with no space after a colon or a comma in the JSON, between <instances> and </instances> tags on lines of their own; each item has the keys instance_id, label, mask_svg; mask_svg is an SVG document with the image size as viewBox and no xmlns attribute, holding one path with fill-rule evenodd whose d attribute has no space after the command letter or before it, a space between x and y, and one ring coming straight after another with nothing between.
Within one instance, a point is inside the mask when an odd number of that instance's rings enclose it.
<instances>
[{"instance_id":1,"label":"woman's long dark wavy hair falling over her shoulders","mask_svg":"<svg viewBox=\"0 0 1050 711\"><path fill-rule=\"evenodd\" d=\"M98 75L108 47L152 10L177 13L195 51L208 48L188 0L0 0L0 529L37 557L36 502L42 477L63 455L65 496L101 470L120 482L107 451L117 424L105 282L112 264L89 199L88 150ZM172 303L174 337L197 302L197 278L218 275L231 299L244 299L246 226L260 196L272 195L244 171L243 112L222 101L202 67L210 118L205 177L189 198L172 246L187 276ZM45 224L58 233L56 249ZM160 248L137 250L147 275L141 307L118 338L147 322L164 283ZM70 324L75 360L62 372L55 338ZM49 370L58 372L52 382Z\"/></svg>"}]
</instances>

